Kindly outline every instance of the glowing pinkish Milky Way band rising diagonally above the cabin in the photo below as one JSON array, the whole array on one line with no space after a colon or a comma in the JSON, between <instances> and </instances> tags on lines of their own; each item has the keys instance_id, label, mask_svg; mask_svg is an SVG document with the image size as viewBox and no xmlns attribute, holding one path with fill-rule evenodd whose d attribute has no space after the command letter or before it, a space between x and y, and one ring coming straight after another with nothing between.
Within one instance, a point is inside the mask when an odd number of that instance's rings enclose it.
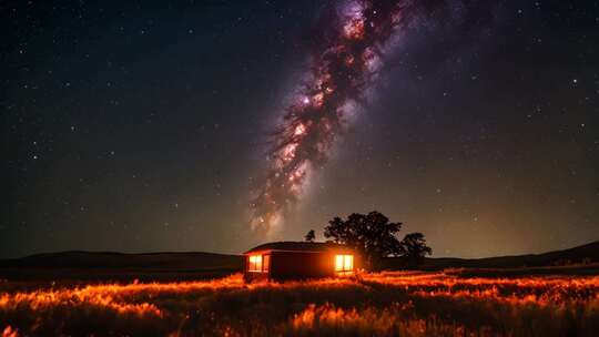
<instances>
[{"instance_id":1,"label":"glowing pinkish Milky Way band rising diagonally above the cabin","mask_svg":"<svg viewBox=\"0 0 599 337\"><path fill-rule=\"evenodd\" d=\"M326 162L349 110L364 101L386 44L415 9L413 1L362 0L324 10L308 80L273 133L268 171L252 204L254 229L268 233L297 203L311 171Z\"/></svg>"}]
</instances>

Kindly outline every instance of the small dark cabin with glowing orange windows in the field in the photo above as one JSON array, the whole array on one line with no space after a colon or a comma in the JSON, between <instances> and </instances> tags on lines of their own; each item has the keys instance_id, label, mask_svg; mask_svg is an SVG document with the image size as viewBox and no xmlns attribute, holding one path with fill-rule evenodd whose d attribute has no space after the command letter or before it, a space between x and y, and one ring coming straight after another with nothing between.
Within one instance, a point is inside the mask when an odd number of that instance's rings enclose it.
<instances>
[{"instance_id":1,"label":"small dark cabin with glowing orange windows in the field","mask_svg":"<svg viewBox=\"0 0 599 337\"><path fill-rule=\"evenodd\" d=\"M335 243L267 243L244 256L246 282L352 276L359 263L352 249Z\"/></svg>"}]
</instances>

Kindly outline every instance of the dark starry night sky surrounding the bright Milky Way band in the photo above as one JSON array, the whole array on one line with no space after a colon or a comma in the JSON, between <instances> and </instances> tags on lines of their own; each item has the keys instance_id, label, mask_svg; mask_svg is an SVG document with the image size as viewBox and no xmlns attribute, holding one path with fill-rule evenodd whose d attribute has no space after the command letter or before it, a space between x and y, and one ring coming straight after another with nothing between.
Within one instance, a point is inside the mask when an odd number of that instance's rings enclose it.
<instances>
[{"instance_id":1,"label":"dark starry night sky surrounding the bright Milky Way band","mask_svg":"<svg viewBox=\"0 0 599 337\"><path fill-rule=\"evenodd\" d=\"M599 239L599 3L445 2L267 238L251 191L323 1L0 4L0 258L240 253L373 210L435 256Z\"/></svg>"}]
</instances>

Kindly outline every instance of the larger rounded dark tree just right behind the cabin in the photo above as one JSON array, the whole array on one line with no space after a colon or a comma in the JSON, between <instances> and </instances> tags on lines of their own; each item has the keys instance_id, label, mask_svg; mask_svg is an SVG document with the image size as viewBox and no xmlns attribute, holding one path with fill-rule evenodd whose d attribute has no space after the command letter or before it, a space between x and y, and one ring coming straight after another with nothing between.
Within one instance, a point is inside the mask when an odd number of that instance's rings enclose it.
<instances>
[{"instance_id":1,"label":"larger rounded dark tree just right behind the cabin","mask_svg":"<svg viewBox=\"0 0 599 337\"><path fill-rule=\"evenodd\" d=\"M328 222L324 235L333 242L345 244L357 251L369 269L380 266L383 258L402 255L402 244L395 235L402 223L392 223L385 215L373 211L368 214L354 213L347 219L335 217Z\"/></svg>"}]
</instances>

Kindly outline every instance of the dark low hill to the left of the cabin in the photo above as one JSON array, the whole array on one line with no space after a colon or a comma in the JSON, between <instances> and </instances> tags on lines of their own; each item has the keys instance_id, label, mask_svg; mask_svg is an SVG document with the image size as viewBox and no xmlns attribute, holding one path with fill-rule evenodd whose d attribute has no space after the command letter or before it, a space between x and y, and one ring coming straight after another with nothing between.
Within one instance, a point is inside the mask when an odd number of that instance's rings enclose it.
<instances>
[{"instance_id":1,"label":"dark low hill to the left of the cabin","mask_svg":"<svg viewBox=\"0 0 599 337\"><path fill-rule=\"evenodd\" d=\"M1 259L0 279L183 280L222 277L242 270L243 265L241 255L75 251Z\"/></svg>"}]
</instances>

